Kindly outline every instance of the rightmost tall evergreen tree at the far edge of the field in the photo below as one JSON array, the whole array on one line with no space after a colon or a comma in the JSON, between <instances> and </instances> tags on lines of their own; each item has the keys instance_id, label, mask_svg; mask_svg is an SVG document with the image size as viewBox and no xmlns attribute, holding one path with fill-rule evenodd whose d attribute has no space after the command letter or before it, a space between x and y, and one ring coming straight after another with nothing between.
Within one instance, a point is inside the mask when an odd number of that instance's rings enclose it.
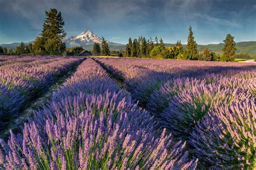
<instances>
[{"instance_id":1,"label":"rightmost tall evergreen tree at the far edge of the field","mask_svg":"<svg viewBox=\"0 0 256 170\"><path fill-rule=\"evenodd\" d=\"M234 37L231 36L231 34L227 34L227 37L225 40L223 40L225 43L223 51L223 56L221 56L221 61L234 61L234 55L235 55L235 41Z\"/></svg>"}]
</instances>

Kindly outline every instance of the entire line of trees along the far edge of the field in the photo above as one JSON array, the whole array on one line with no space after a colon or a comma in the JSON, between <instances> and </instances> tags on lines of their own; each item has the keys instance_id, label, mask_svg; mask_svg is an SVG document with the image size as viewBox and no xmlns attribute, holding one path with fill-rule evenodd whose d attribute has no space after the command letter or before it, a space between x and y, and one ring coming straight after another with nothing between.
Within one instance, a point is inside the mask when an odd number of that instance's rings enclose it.
<instances>
[{"instance_id":1,"label":"entire line of trees along the far edge of the field","mask_svg":"<svg viewBox=\"0 0 256 170\"><path fill-rule=\"evenodd\" d=\"M31 43L25 45L23 42L15 49L0 47L0 54L9 55L77 55L84 49L82 47L66 48L63 38L66 36L64 30L64 19L62 13L56 9L45 11L43 30L38 37ZM194 40L192 27L190 26L187 44L184 48L181 41L175 45L166 47L163 39L146 39L140 36L138 39L129 38L125 52L120 51L119 56L135 58L164 58L164 59L183 59L183 60L211 60L211 61L234 61L235 41L231 34L227 34L224 40L223 55L211 52L207 47L203 53L199 53L197 42ZM107 41L102 38L102 47L95 43L92 49L93 55L111 55Z\"/></svg>"}]
</instances>

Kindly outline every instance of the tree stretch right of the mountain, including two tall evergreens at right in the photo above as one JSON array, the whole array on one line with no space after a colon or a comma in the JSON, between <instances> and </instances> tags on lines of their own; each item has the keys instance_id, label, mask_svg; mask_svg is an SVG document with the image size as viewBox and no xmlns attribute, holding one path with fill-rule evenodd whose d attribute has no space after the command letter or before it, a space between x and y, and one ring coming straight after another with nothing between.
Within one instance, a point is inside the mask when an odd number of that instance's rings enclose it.
<instances>
[{"instance_id":1,"label":"tree stretch right of the mountain, including two tall evergreens at right","mask_svg":"<svg viewBox=\"0 0 256 170\"><path fill-rule=\"evenodd\" d=\"M138 39L129 38L125 46L125 56L138 58L164 58L164 59L181 59L181 60L207 60L207 61L234 61L235 41L231 34L227 34L224 40L223 55L215 54L205 47L203 53L199 53L197 42L194 40L192 27L190 26L187 38L187 44L184 48L181 41L175 45L165 47L163 39L158 40L157 36L146 40L140 36Z\"/></svg>"}]
</instances>

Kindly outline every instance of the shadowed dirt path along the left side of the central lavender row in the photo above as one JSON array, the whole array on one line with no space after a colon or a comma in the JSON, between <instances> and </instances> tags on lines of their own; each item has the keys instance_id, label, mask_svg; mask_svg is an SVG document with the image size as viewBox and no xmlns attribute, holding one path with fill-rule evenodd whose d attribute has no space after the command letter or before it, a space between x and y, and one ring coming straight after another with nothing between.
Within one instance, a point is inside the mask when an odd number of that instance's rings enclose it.
<instances>
[{"instance_id":1,"label":"shadowed dirt path along the left side of the central lavender row","mask_svg":"<svg viewBox=\"0 0 256 170\"><path fill-rule=\"evenodd\" d=\"M51 84L51 86L49 86L48 89L45 90L44 93L37 96L31 102L27 103L24 109L19 112L19 115L15 119L10 120L4 129L1 129L0 138L7 140L10 134L10 130L12 130L14 133L21 132L24 122L26 122L27 119L33 115L34 111L42 109L44 104L47 104L51 101L52 93L62 87L63 83L76 72L77 67L83 61L84 60L79 61L67 72L57 76L55 81Z\"/></svg>"}]
</instances>

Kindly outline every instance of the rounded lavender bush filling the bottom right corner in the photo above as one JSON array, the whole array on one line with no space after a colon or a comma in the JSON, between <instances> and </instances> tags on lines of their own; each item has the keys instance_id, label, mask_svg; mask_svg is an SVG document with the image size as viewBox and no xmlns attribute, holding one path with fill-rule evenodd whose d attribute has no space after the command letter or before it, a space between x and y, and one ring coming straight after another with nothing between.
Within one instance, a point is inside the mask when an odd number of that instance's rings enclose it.
<instances>
[{"instance_id":1,"label":"rounded lavender bush filling the bottom right corner","mask_svg":"<svg viewBox=\"0 0 256 170\"><path fill-rule=\"evenodd\" d=\"M196 154L215 168L255 168L255 99L208 112L191 133Z\"/></svg>"}]
</instances>

